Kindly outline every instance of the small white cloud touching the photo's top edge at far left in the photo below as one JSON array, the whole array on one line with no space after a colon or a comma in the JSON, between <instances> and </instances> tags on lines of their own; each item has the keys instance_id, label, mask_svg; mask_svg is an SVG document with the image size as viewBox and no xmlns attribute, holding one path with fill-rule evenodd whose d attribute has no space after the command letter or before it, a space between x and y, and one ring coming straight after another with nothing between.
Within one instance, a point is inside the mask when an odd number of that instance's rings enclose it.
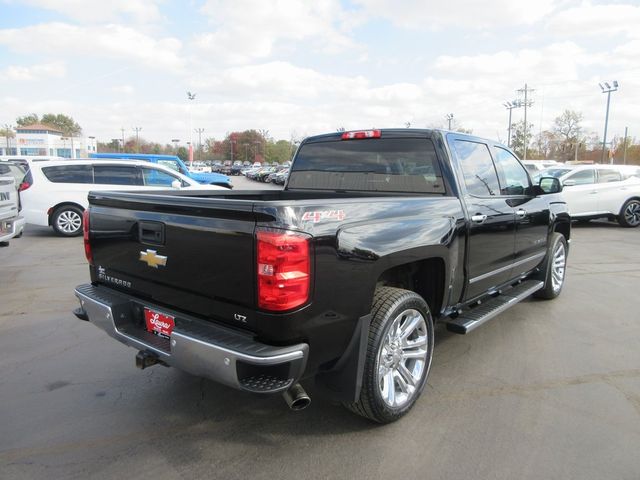
<instances>
[{"instance_id":1,"label":"small white cloud touching the photo's top edge at far left","mask_svg":"<svg viewBox=\"0 0 640 480\"><path fill-rule=\"evenodd\" d=\"M161 18L155 0L24 0L83 23L108 23L126 18L149 23Z\"/></svg>"}]
</instances>

